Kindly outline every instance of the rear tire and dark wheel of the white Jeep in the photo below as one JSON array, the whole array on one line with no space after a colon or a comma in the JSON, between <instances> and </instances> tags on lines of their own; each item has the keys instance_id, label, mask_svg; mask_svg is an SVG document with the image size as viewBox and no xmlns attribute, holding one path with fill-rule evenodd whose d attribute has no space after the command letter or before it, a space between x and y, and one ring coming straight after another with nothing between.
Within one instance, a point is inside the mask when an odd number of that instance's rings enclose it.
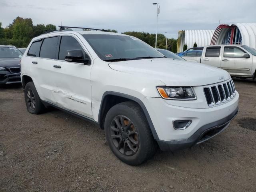
<instances>
[{"instance_id":1,"label":"rear tire and dark wheel of the white Jeep","mask_svg":"<svg viewBox=\"0 0 256 192\"><path fill-rule=\"evenodd\" d=\"M44 104L42 104L33 82L28 82L26 84L24 96L28 112L32 114L41 114L45 112L46 108Z\"/></svg>"}]
</instances>

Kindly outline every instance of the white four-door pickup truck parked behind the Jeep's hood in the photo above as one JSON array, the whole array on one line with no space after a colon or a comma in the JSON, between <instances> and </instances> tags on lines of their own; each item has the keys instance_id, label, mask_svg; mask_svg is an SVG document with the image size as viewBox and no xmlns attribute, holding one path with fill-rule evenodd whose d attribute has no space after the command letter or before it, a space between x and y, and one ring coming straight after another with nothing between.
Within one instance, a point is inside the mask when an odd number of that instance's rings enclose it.
<instances>
[{"instance_id":1,"label":"white four-door pickup truck parked behind the Jeep's hood","mask_svg":"<svg viewBox=\"0 0 256 192\"><path fill-rule=\"evenodd\" d=\"M205 46L202 56L183 56L188 61L222 68L230 76L256 78L256 50L246 45L209 45Z\"/></svg>"}]
</instances>

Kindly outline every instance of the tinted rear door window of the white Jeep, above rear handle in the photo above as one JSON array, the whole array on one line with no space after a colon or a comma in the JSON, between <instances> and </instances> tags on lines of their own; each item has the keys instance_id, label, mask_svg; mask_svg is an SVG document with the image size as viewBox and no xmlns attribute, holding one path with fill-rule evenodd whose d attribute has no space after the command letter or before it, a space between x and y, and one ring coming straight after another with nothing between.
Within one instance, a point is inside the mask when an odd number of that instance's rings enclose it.
<instances>
[{"instance_id":1,"label":"tinted rear door window of the white Jeep, above rear handle","mask_svg":"<svg viewBox=\"0 0 256 192\"><path fill-rule=\"evenodd\" d=\"M57 43L58 36L45 38L41 46L40 57L55 59Z\"/></svg>"}]
</instances>

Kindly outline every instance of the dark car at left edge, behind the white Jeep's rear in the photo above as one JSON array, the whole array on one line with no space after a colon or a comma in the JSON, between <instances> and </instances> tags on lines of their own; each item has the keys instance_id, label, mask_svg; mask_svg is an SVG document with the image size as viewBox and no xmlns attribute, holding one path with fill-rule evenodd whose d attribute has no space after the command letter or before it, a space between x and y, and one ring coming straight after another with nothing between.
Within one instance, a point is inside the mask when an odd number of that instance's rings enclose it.
<instances>
[{"instance_id":1,"label":"dark car at left edge, behind the white Jeep's rear","mask_svg":"<svg viewBox=\"0 0 256 192\"><path fill-rule=\"evenodd\" d=\"M0 45L0 85L20 83L22 52L14 46Z\"/></svg>"}]
</instances>

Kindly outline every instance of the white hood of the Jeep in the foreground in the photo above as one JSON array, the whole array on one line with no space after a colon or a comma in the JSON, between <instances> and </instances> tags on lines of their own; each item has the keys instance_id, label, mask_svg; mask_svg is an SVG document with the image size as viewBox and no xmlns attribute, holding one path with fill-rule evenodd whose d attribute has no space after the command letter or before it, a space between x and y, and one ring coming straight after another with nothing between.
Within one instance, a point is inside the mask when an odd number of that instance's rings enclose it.
<instances>
[{"instance_id":1,"label":"white hood of the Jeep in the foreground","mask_svg":"<svg viewBox=\"0 0 256 192\"><path fill-rule=\"evenodd\" d=\"M109 66L120 72L161 80L166 86L202 86L230 78L220 68L170 58L111 62Z\"/></svg>"}]
</instances>

